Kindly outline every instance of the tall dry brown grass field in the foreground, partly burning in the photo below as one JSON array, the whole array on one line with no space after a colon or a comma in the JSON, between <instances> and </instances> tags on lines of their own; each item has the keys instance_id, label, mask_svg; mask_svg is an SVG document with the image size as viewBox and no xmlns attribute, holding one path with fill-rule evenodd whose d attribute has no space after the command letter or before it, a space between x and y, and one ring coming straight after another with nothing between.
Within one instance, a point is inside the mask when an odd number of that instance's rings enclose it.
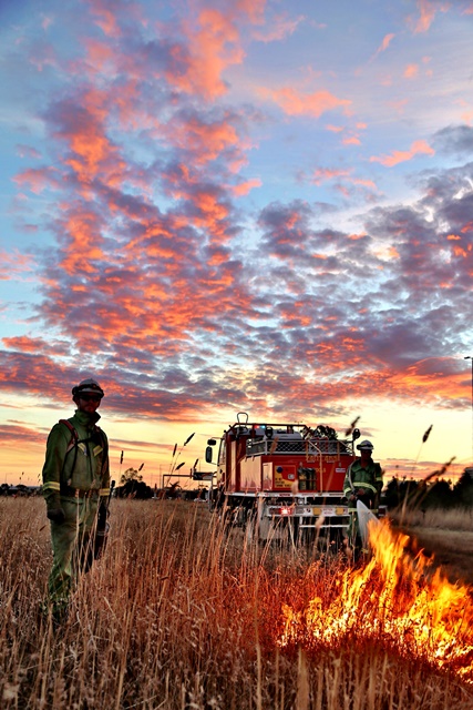
<instances>
[{"instance_id":1,"label":"tall dry brown grass field in the foreground, partly burning","mask_svg":"<svg viewBox=\"0 0 473 710\"><path fill-rule=\"evenodd\" d=\"M423 646L413 621L393 640L373 616L385 594L376 568L361 578L341 556L247 541L202 504L113 500L111 508L105 555L55 630L39 612L51 565L44 504L0 498L2 709L473 707L463 621L462 653L451 663L432 660L440 651L449 659L452 642L439 650L425 622ZM402 599L414 604L420 585L402 582ZM315 625L321 609L331 610L330 635Z\"/></svg>"}]
</instances>

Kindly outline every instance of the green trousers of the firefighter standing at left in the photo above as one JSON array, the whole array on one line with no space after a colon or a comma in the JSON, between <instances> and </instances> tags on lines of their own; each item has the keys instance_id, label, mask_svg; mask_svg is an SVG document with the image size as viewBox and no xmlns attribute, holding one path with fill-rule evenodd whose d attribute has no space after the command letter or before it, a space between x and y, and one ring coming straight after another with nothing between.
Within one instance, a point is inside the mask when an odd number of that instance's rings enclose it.
<instances>
[{"instance_id":1,"label":"green trousers of the firefighter standing at left","mask_svg":"<svg viewBox=\"0 0 473 710\"><path fill-rule=\"evenodd\" d=\"M74 501L61 499L64 523L51 520L53 564L48 581L48 596L53 609L65 610L71 591L81 572L93 561L97 503L90 498Z\"/></svg>"}]
</instances>

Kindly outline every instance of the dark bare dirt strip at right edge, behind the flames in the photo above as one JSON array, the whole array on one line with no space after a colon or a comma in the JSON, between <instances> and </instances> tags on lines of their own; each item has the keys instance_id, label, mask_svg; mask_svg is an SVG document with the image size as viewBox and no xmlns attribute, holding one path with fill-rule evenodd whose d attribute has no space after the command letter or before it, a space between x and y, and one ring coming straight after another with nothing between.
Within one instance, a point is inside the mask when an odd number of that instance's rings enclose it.
<instances>
[{"instance_id":1,"label":"dark bare dirt strip at right edge, behind the flames","mask_svg":"<svg viewBox=\"0 0 473 710\"><path fill-rule=\"evenodd\" d=\"M403 531L412 538L414 551L417 547L433 556L433 565L441 566L450 581L470 586L473 594L473 531L421 526Z\"/></svg>"}]
</instances>

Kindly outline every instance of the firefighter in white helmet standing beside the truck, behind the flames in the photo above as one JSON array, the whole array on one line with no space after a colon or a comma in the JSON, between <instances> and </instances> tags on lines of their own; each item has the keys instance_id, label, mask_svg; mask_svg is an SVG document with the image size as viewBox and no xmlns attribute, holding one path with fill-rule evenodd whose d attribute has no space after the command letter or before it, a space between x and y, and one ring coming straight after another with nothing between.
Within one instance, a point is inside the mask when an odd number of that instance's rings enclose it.
<instances>
[{"instance_id":1,"label":"firefighter in white helmet standing beside the truck, behind the flames","mask_svg":"<svg viewBox=\"0 0 473 710\"><path fill-rule=\"evenodd\" d=\"M350 523L348 526L348 545L353 550L354 557L362 551L360 527L357 515L357 501L361 500L374 515L382 490L382 469L372 459L373 445L368 439L358 444L360 457L347 469L343 483L343 495L348 500Z\"/></svg>"}]
</instances>

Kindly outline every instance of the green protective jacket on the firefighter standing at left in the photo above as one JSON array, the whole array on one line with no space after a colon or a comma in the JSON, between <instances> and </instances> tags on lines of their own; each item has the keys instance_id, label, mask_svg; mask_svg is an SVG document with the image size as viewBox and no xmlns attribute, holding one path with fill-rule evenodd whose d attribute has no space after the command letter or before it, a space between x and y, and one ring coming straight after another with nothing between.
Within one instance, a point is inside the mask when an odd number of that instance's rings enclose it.
<instances>
[{"instance_id":1,"label":"green protective jacket on the firefighter standing at left","mask_svg":"<svg viewBox=\"0 0 473 710\"><path fill-rule=\"evenodd\" d=\"M60 500L109 497L109 442L99 419L96 412L78 409L68 419L71 428L59 422L51 429L42 474L48 508L59 507Z\"/></svg>"}]
</instances>

